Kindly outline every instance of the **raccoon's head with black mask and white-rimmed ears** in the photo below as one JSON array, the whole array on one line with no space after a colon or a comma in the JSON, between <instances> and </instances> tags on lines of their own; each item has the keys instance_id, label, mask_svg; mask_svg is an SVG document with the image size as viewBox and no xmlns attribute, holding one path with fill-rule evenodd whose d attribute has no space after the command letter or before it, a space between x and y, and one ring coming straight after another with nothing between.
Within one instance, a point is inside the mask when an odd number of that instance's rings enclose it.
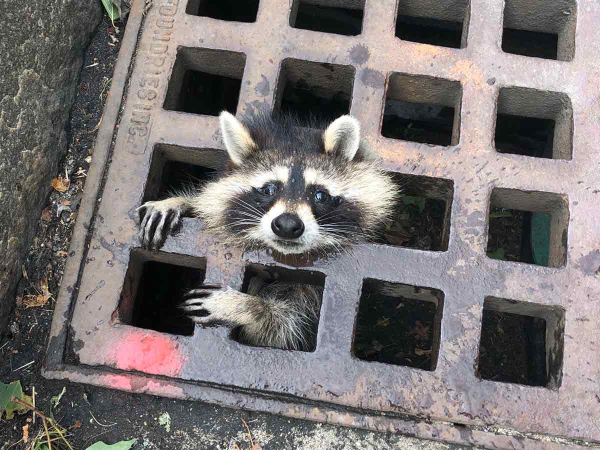
<instances>
[{"instance_id":1,"label":"raccoon's head with black mask and white-rimmed ears","mask_svg":"<svg viewBox=\"0 0 600 450\"><path fill-rule=\"evenodd\" d=\"M220 125L230 169L203 188L195 209L233 244L282 254L339 250L389 219L397 185L361 143L352 116L325 131L268 114L242 124L223 112Z\"/></svg>"}]
</instances>

